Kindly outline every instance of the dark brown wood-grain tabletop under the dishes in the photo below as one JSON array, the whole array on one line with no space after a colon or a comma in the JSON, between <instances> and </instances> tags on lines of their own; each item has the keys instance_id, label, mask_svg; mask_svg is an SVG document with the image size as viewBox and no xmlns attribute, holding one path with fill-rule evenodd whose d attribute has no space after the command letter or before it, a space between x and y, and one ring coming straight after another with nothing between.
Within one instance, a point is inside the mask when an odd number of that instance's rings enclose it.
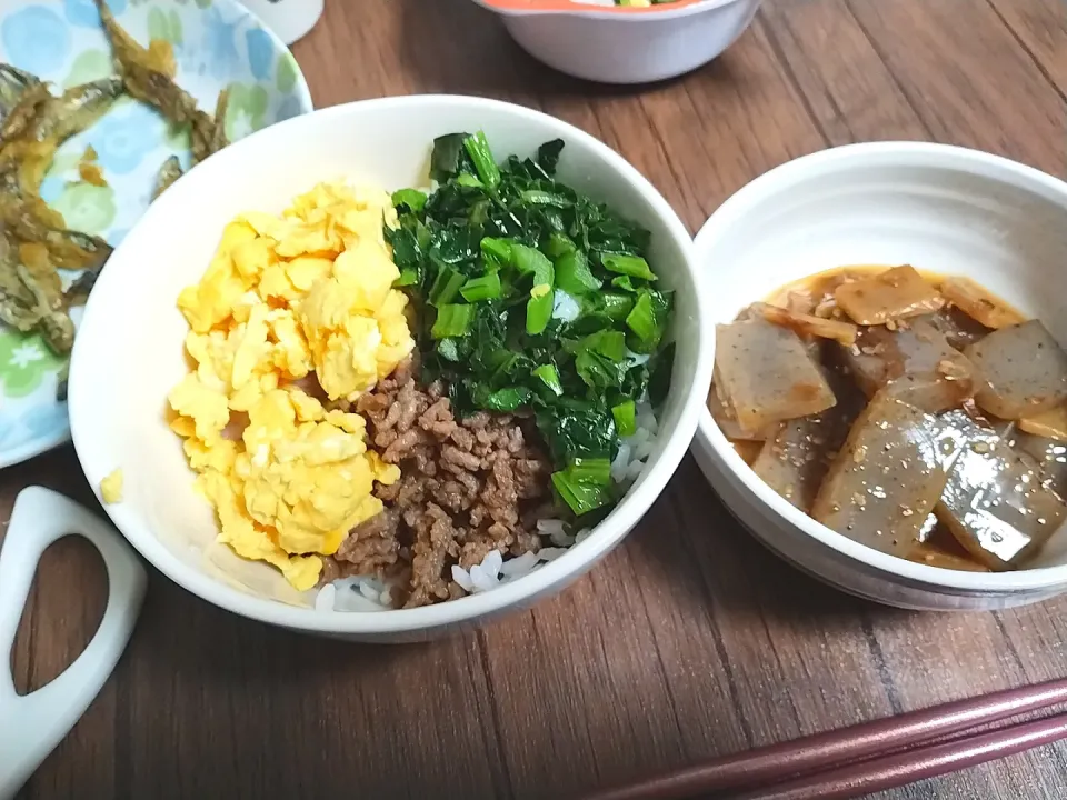
<instances>
[{"instance_id":1,"label":"dark brown wood-grain tabletop under the dishes","mask_svg":"<svg viewBox=\"0 0 1067 800\"><path fill-rule=\"evenodd\" d=\"M768 0L721 59L610 89L521 53L469 0L327 0L296 47L318 106L465 92L541 108L632 161L696 230L765 170L830 144L931 139L1067 176L1063 0ZM0 473L91 501L68 449ZM68 540L16 647L48 682L103 599ZM151 576L118 670L27 798L557 798L650 770L1067 676L1067 599L906 613L824 588L730 519L691 459L626 546L480 632L405 647L295 636ZM0 720L2 724L2 720ZM1067 797L1067 744L889 792Z\"/></svg>"}]
</instances>

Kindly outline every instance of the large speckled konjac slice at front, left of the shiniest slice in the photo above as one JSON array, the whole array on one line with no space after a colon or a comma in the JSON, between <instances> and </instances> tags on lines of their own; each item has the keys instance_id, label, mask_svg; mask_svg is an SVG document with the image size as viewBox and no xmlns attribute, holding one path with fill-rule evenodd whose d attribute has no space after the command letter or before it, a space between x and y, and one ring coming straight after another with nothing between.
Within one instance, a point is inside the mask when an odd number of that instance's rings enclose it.
<instances>
[{"instance_id":1,"label":"large speckled konjac slice at front, left of the shiniest slice","mask_svg":"<svg viewBox=\"0 0 1067 800\"><path fill-rule=\"evenodd\" d=\"M941 497L958 442L936 417L878 392L852 424L811 516L868 547L907 558Z\"/></svg>"}]
</instances>

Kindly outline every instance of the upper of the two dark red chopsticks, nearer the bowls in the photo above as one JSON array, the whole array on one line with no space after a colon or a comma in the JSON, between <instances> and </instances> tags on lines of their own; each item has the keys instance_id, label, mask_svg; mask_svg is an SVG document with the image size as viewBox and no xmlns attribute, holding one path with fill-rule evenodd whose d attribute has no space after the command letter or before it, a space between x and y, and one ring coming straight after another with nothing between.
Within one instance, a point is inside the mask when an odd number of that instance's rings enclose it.
<instances>
[{"instance_id":1,"label":"upper of the two dark red chopsticks, nearer the bowls","mask_svg":"<svg viewBox=\"0 0 1067 800\"><path fill-rule=\"evenodd\" d=\"M859 769L860 764L855 764L857 761L885 757L886 753L903 749L906 751L899 757L890 756L878 760L907 758L911 749L928 744L933 740L1059 703L1067 703L1067 680L1047 681L1021 689L993 692L828 733L757 748L637 783L596 791L587 794L586 800L682 800L727 789L752 790L812 772L827 772L835 768L847 769L849 766L855 766ZM974 741L981 739L983 736ZM1025 738L1025 732L1023 736ZM944 747L969 751L967 750L970 747L969 741L971 740L936 744L935 750ZM1036 747L1036 744L1028 747ZM1010 750L1010 752L1017 752L1017 750ZM998 757L990 756L990 758Z\"/></svg>"}]
</instances>

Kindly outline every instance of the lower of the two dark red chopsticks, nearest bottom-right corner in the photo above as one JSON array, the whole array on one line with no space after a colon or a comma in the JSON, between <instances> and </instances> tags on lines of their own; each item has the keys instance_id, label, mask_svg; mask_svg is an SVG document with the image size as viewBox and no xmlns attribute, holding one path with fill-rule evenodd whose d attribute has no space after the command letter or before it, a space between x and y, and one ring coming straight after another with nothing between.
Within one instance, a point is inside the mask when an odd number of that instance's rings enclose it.
<instances>
[{"instance_id":1,"label":"lower of the two dark red chopsticks, nearest bottom-right corner","mask_svg":"<svg viewBox=\"0 0 1067 800\"><path fill-rule=\"evenodd\" d=\"M919 747L887 758L816 772L735 800L848 800L915 781L956 772L1067 739L1067 713L1020 722L944 744Z\"/></svg>"}]
</instances>

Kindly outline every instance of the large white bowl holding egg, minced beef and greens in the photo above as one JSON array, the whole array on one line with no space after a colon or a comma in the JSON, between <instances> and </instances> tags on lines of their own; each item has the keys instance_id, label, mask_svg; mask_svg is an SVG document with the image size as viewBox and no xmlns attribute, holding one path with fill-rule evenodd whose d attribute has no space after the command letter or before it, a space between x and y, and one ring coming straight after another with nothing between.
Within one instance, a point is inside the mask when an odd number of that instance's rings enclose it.
<instances>
[{"instance_id":1,"label":"large white bowl holding egg, minced beef and greens","mask_svg":"<svg viewBox=\"0 0 1067 800\"><path fill-rule=\"evenodd\" d=\"M193 491L181 442L164 421L187 372L188 326L176 308L223 226L250 209L279 212L316 182L425 186L435 137L483 130L499 158L561 138L562 180L644 223L651 261L677 290L674 380L644 474L588 539L515 582L428 608L319 612L270 567L215 544L217 524ZM397 641L483 621L560 590L618 544L662 491L689 447L711 376L711 342L692 241L670 206L621 157L560 120L492 100L406 97L339 106L269 128L213 156L168 190L116 250L86 309L70 371L70 419L89 482L121 468L124 500L107 511L161 572L217 606L297 630Z\"/></svg>"}]
</instances>

